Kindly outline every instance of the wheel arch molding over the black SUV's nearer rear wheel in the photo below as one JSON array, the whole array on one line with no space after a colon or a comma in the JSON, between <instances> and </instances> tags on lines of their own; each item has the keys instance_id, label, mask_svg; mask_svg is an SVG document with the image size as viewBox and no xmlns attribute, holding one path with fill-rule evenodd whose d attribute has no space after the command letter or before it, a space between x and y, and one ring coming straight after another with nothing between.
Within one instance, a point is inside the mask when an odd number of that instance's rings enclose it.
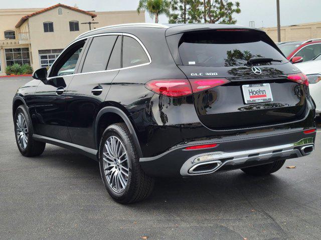
<instances>
[{"instance_id":1,"label":"wheel arch molding over the black SUV's nearer rear wheel","mask_svg":"<svg viewBox=\"0 0 321 240\"><path fill-rule=\"evenodd\" d=\"M119 119L127 125L129 132L133 137L134 144L136 145L138 155L139 155L139 157L142 157L142 152L141 152L140 144L138 141L138 137L136 135L135 129L134 129L130 119L128 118L126 113L124 113L121 109L119 109L115 106L105 106L105 107L101 108L100 111L98 112L96 120L95 120L95 125L94 125L95 145L98 147L98 144L99 144L99 138L100 138L99 124L101 122L100 120L102 120L103 117L108 114L113 114L114 116L115 115L119 116Z\"/></svg>"}]
</instances>

